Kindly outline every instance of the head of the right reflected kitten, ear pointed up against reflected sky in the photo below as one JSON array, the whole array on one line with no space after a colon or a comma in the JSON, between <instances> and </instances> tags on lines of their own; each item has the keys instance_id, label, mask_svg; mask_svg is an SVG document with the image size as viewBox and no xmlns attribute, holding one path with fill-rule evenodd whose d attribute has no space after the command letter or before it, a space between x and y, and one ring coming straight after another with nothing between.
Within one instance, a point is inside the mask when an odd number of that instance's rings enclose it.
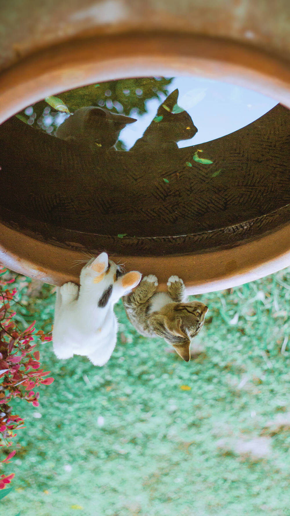
<instances>
[{"instance_id":1,"label":"head of the right reflected kitten, ear pointed up against reflected sky","mask_svg":"<svg viewBox=\"0 0 290 516\"><path fill-rule=\"evenodd\" d=\"M178 95L179 91L176 89L165 99L150 125L160 141L189 140L198 131L188 113L178 106Z\"/></svg>"}]
</instances>

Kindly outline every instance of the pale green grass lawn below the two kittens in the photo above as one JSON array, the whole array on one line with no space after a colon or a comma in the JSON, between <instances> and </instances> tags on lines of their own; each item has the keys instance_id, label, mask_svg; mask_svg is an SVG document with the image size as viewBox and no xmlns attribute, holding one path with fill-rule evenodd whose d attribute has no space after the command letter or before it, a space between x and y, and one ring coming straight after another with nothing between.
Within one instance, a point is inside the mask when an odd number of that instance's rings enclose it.
<instances>
[{"instance_id":1,"label":"pale green grass lawn below the two kittens","mask_svg":"<svg viewBox=\"0 0 290 516\"><path fill-rule=\"evenodd\" d=\"M47 329L51 287L33 299L29 281L19 320ZM289 516L290 271L197 297L209 311L189 363L138 335L121 303L106 366L40 344L55 381L37 408L14 401L26 428L3 514Z\"/></svg>"}]
</instances>

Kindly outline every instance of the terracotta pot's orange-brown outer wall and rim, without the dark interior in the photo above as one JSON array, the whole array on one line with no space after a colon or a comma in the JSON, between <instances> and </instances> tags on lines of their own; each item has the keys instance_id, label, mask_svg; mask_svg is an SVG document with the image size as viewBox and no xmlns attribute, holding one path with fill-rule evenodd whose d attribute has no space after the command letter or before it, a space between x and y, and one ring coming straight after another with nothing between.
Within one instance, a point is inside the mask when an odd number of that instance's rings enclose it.
<instances>
[{"instance_id":1,"label":"terracotta pot's orange-brown outer wall and rim, without the dark interior","mask_svg":"<svg viewBox=\"0 0 290 516\"><path fill-rule=\"evenodd\" d=\"M60 91L146 75L210 77L255 89L290 108L288 2L241 1L238 8L234 0L160 0L158 8L155 2L130 4L10 2L2 17L0 121ZM167 254L160 248L159 255L115 257L127 270L156 273L162 289L172 273L184 279L189 293L242 284L290 264L286 203L278 208L285 210L277 223L234 243L229 238L186 254L179 245ZM75 245L53 245L38 236L2 218L2 263L47 283L77 282L79 268L71 267L83 254Z\"/></svg>"}]
</instances>

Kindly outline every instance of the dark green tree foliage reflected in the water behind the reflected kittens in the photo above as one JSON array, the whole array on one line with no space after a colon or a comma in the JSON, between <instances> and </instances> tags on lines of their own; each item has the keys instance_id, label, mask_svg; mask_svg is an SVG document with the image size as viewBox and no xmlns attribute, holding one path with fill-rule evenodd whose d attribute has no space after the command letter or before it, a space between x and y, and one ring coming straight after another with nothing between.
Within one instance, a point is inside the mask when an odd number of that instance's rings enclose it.
<instances>
[{"instance_id":1,"label":"dark green tree foliage reflected in the water behind the reflected kittens","mask_svg":"<svg viewBox=\"0 0 290 516\"><path fill-rule=\"evenodd\" d=\"M82 106L101 106L124 115L129 115L134 108L135 113L141 115L147 112L148 99L161 100L160 94L168 94L167 86L171 80L165 77L120 79L83 86L59 93L57 96L67 104L71 112ZM53 133L67 117L66 114L47 105L45 101L26 108L18 116L29 125L35 124L47 133Z\"/></svg>"}]
</instances>

